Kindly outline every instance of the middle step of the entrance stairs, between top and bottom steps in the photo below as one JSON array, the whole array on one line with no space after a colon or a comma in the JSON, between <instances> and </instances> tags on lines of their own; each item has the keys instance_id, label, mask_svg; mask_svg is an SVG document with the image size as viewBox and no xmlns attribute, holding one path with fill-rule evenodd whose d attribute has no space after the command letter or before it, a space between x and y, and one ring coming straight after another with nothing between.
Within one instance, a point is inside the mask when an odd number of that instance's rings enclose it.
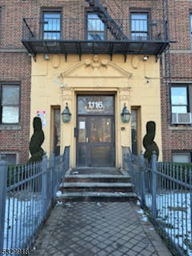
<instances>
[{"instance_id":1,"label":"middle step of the entrance stairs, between top and bottom steps","mask_svg":"<svg viewBox=\"0 0 192 256\"><path fill-rule=\"evenodd\" d=\"M61 183L60 187L130 187L132 183L120 183L120 182L64 182Z\"/></svg>"}]
</instances>

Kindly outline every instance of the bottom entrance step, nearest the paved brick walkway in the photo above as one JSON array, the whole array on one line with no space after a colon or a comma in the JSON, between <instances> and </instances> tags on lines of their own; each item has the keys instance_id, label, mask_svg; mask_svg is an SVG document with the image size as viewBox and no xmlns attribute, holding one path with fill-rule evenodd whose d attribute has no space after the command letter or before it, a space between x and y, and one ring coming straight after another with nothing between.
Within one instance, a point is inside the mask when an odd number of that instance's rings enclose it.
<instances>
[{"instance_id":1,"label":"bottom entrance step, nearest the paved brick walkway","mask_svg":"<svg viewBox=\"0 0 192 256\"><path fill-rule=\"evenodd\" d=\"M57 201L137 201L134 192L64 192Z\"/></svg>"}]
</instances>

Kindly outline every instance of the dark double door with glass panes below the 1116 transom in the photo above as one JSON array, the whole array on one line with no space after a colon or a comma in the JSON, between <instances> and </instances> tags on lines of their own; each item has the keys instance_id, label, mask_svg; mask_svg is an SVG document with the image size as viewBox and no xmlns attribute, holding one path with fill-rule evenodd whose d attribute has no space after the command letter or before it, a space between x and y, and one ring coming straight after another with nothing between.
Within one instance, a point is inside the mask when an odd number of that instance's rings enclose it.
<instances>
[{"instance_id":1,"label":"dark double door with glass panes below the 1116 transom","mask_svg":"<svg viewBox=\"0 0 192 256\"><path fill-rule=\"evenodd\" d=\"M77 166L115 166L113 116L78 116Z\"/></svg>"}]
</instances>

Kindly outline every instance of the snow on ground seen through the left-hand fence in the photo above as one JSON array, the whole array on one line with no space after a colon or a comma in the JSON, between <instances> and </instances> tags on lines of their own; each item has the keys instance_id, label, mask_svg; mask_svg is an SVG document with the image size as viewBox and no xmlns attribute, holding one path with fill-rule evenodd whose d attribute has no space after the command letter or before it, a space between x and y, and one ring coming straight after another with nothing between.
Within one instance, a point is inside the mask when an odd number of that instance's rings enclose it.
<instances>
[{"instance_id":1,"label":"snow on ground seen through the left-hand fence","mask_svg":"<svg viewBox=\"0 0 192 256\"><path fill-rule=\"evenodd\" d=\"M42 202L6 198L5 229L3 248L23 249L27 238L31 236L42 219Z\"/></svg>"}]
</instances>

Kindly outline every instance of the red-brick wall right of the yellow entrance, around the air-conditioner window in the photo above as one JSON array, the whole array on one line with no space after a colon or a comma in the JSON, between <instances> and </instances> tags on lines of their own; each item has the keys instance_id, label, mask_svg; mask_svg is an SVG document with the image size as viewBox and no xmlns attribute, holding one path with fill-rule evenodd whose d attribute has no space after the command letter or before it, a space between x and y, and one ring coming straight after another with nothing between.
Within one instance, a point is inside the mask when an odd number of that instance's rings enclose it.
<instances>
[{"instance_id":1,"label":"red-brick wall right of the yellow entrance, around the air-conditioner window","mask_svg":"<svg viewBox=\"0 0 192 256\"><path fill-rule=\"evenodd\" d=\"M169 0L170 39L176 41L170 47L171 81L192 82L192 51L189 12L191 1ZM167 60L167 64L168 60ZM192 127L170 125L170 87L161 83L161 118L163 160L171 161L174 151L192 152Z\"/></svg>"}]
</instances>

